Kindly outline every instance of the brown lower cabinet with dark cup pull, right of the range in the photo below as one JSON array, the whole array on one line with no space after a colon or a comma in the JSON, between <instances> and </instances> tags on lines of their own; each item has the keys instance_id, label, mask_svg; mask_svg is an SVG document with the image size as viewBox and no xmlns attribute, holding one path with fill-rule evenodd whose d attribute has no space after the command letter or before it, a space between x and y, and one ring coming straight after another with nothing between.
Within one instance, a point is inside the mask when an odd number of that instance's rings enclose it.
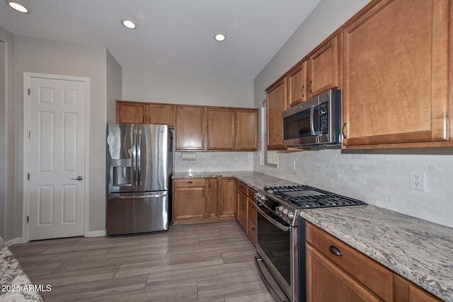
<instances>
[{"instance_id":1,"label":"brown lower cabinet with dark cup pull, right of the range","mask_svg":"<svg viewBox=\"0 0 453 302\"><path fill-rule=\"evenodd\" d=\"M306 279L309 302L441 301L308 222Z\"/></svg>"}]
</instances>

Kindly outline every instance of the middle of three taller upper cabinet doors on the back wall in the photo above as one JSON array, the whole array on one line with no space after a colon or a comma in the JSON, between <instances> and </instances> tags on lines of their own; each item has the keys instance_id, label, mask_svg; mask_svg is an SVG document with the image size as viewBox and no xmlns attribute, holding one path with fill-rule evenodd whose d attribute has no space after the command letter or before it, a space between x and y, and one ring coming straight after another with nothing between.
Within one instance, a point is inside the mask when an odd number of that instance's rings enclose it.
<instances>
[{"instance_id":1,"label":"middle of three taller upper cabinet doors on the back wall","mask_svg":"<svg viewBox=\"0 0 453 302\"><path fill-rule=\"evenodd\" d=\"M207 109L207 149L234 149L234 109Z\"/></svg>"}]
</instances>

